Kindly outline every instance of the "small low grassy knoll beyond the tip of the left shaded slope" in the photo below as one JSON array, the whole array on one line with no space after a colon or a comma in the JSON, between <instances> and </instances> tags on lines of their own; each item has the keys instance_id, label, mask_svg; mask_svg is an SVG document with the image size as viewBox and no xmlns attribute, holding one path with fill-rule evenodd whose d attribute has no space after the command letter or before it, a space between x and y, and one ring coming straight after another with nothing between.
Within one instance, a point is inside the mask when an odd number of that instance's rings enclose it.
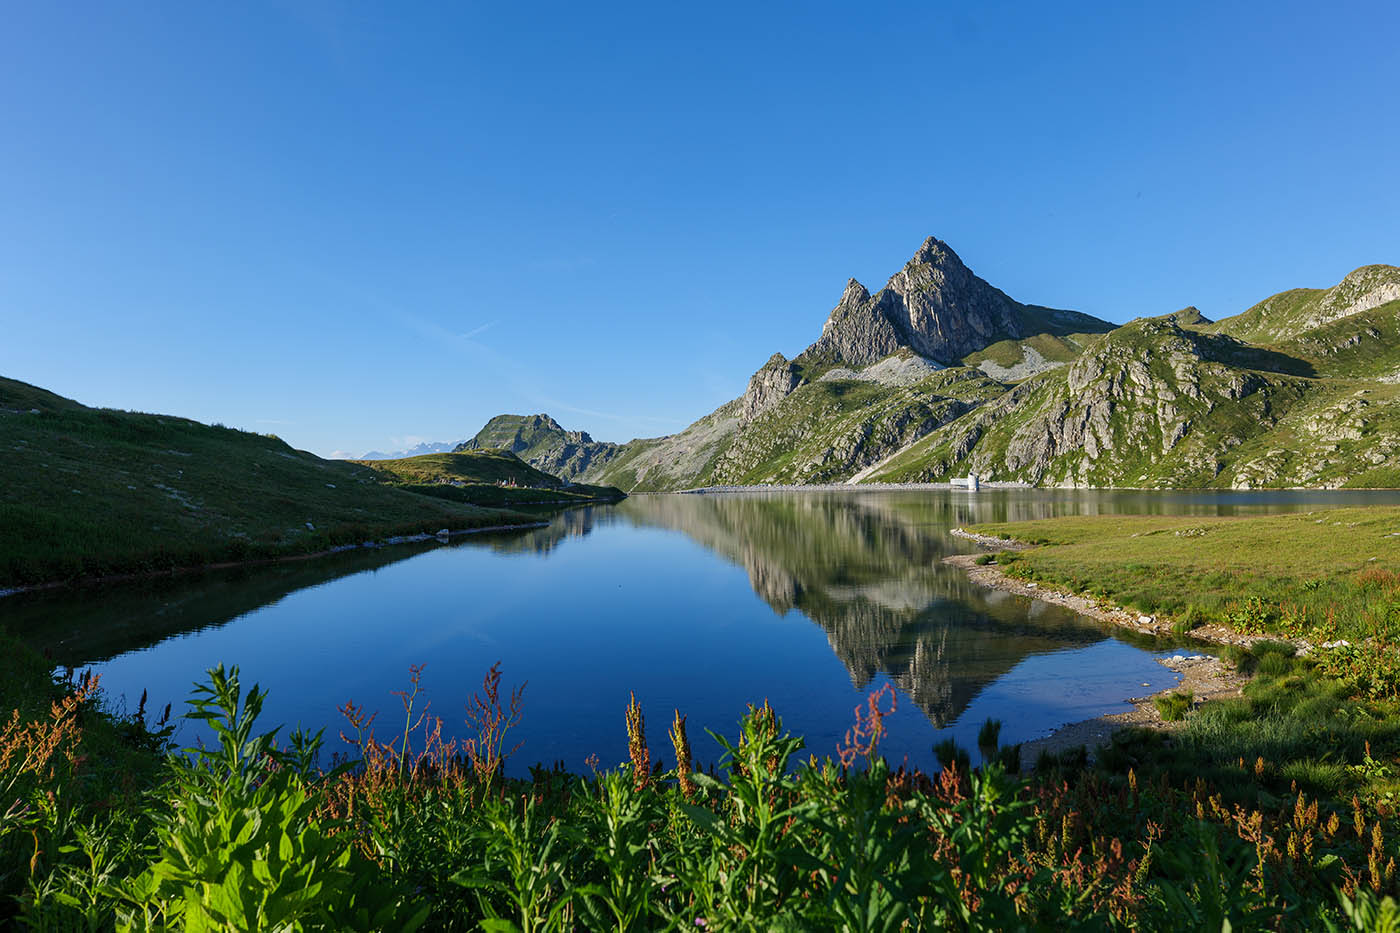
<instances>
[{"instance_id":1,"label":"small low grassy knoll beyond the tip of the left shaded slope","mask_svg":"<svg viewBox=\"0 0 1400 933\"><path fill-rule=\"evenodd\" d=\"M566 483L501 448L350 462L374 471L382 482L402 489L475 506L559 504L623 497L623 492L613 486Z\"/></svg>"}]
</instances>

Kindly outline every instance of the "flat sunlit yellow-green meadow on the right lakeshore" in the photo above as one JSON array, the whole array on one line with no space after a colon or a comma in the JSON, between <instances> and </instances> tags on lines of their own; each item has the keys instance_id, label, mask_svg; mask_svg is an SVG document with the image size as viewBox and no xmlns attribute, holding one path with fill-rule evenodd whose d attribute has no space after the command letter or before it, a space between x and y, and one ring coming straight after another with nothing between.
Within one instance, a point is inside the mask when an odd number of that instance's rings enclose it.
<instances>
[{"instance_id":1,"label":"flat sunlit yellow-green meadow on the right lakeshore","mask_svg":"<svg viewBox=\"0 0 1400 933\"><path fill-rule=\"evenodd\" d=\"M1037 545L1005 555L1015 576L1141 612L1249 633L1400 633L1392 569L1400 509L1282 516L1074 516L973 525Z\"/></svg>"}]
</instances>

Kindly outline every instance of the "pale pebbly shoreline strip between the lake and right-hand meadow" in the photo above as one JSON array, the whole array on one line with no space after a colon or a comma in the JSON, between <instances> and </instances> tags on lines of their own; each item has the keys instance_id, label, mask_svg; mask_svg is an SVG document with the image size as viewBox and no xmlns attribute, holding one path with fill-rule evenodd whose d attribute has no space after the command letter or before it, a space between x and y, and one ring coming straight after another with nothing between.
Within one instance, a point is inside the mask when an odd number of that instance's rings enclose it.
<instances>
[{"instance_id":1,"label":"pale pebbly shoreline strip between the lake and right-hand meadow","mask_svg":"<svg viewBox=\"0 0 1400 933\"><path fill-rule=\"evenodd\" d=\"M988 549L1023 551L1032 546L1021 541L976 535L965 531L963 528L953 528L951 534L956 538L970 541ZM1121 607L1103 607L1098 600L1092 600L1077 593L1067 593L1057 588L1042 587L1036 583L1018 580L1016 577L1004 573L995 565L979 565L977 559L980 556L983 555L956 553L944 558L942 562L962 569L972 583L987 587L988 590L998 590L1001 593L1011 593L1012 595L1060 605L1105 625L1126 629L1137 635L1158 639L1191 639L1221 647L1231 644L1247 647L1256 642L1288 640L1277 636L1240 635L1221 625L1203 625L1186 633L1176 633L1173 632L1173 621L1166 616L1141 615ZM1298 639L1291 640L1291 643L1299 649L1310 647L1306 642ZM1154 699L1158 696L1190 691L1193 695L1191 709L1198 709L1207 700L1239 696L1245 684L1250 681L1249 675L1229 668L1214 654L1182 653L1168 658L1158 658L1158 664L1169 671L1180 674L1182 679L1176 685L1158 691L1149 696L1126 698L1126 702L1133 703L1133 709L1121 713L1106 713L1103 716L1064 723L1049 735L1022 742L1022 770L1033 768L1036 758L1043 752L1057 754L1079 745L1084 745L1088 749L1089 758L1092 759L1098 747L1109 742L1113 738L1113 734L1123 728L1138 726L1166 733L1175 731L1180 727L1180 720L1173 723L1162 719L1162 714L1156 709L1156 703L1154 703Z\"/></svg>"}]
</instances>

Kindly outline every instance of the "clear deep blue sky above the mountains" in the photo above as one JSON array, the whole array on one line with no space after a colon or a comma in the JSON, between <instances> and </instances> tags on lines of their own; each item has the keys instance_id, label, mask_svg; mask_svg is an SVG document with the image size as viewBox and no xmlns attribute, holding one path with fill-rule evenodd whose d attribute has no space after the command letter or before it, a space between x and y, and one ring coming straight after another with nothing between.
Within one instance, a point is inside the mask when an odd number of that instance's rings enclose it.
<instances>
[{"instance_id":1,"label":"clear deep blue sky above the mountains","mask_svg":"<svg viewBox=\"0 0 1400 933\"><path fill-rule=\"evenodd\" d=\"M1022 301L1225 317L1400 263L1396 35L1394 3L13 3L0 374L360 454L678 430L930 234Z\"/></svg>"}]
</instances>

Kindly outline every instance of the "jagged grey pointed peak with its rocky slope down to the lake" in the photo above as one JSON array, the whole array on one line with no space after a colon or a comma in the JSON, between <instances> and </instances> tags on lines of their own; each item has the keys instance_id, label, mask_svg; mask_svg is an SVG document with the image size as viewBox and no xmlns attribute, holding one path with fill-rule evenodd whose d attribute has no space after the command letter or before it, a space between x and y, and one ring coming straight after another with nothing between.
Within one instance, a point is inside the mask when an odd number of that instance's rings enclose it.
<instances>
[{"instance_id":1,"label":"jagged grey pointed peak with its rocky slope down to the lake","mask_svg":"<svg viewBox=\"0 0 1400 933\"><path fill-rule=\"evenodd\" d=\"M930 237L879 294L851 279L797 360L773 354L734 402L679 434L633 441L582 478L630 490L843 481L1002 391L986 373L944 363L995 342L1110 326L1012 301Z\"/></svg>"}]
</instances>

